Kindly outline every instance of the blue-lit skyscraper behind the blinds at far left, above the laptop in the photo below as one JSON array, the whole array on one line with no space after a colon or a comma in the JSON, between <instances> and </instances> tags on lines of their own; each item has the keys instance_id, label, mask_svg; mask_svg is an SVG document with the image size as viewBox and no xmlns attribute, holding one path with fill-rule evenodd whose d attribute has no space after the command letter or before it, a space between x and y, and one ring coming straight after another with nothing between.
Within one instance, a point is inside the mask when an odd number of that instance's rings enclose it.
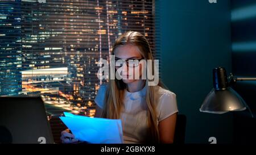
<instances>
[{"instance_id":1,"label":"blue-lit skyscraper behind the blinds at far left, above the laptop","mask_svg":"<svg viewBox=\"0 0 256 155\"><path fill-rule=\"evenodd\" d=\"M0 95L21 92L20 1L0 5Z\"/></svg>"}]
</instances>

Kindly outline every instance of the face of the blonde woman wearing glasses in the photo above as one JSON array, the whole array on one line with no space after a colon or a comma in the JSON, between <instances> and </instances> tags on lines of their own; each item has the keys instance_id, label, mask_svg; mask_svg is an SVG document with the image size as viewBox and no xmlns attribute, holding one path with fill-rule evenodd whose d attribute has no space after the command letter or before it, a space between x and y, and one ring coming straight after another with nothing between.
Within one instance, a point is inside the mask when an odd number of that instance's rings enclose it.
<instances>
[{"instance_id":1,"label":"face of the blonde woman wearing glasses","mask_svg":"<svg viewBox=\"0 0 256 155\"><path fill-rule=\"evenodd\" d=\"M130 44L117 47L114 51L114 55L115 60L140 60L143 58L139 48ZM138 80L135 79L135 74L139 73L139 77L141 77L142 74L142 65L137 67L129 67L124 62L121 67L115 67L115 69L122 69L121 77L122 81L125 83L131 83ZM129 74L129 70L133 74Z\"/></svg>"}]
</instances>

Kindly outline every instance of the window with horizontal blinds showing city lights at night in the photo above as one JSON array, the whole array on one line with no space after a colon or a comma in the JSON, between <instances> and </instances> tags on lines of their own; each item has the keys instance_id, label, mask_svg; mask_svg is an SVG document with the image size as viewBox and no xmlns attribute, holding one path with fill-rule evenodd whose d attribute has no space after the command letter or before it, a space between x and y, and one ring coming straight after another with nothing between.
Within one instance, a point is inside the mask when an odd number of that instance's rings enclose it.
<instances>
[{"instance_id":1,"label":"window with horizontal blinds showing city lights at night","mask_svg":"<svg viewBox=\"0 0 256 155\"><path fill-rule=\"evenodd\" d=\"M63 111L94 116L96 62L118 35L143 33L158 57L157 3L0 0L0 95L40 95L56 128Z\"/></svg>"}]
</instances>

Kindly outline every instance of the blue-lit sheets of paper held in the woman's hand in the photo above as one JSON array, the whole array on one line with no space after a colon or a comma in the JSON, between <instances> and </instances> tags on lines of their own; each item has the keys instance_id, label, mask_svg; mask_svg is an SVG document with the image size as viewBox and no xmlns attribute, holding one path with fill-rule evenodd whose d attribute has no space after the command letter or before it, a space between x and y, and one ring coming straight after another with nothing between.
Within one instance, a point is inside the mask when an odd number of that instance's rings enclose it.
<instances>
[{"instance_id":1,"label":"blue-lit sheets of paper held in the woman's hand","mask_svg":"<svg viewBox=\"0 0 256 155\"><path fill-rule=\"evenodd\" d=\"M75 138L93 144L123 143L120 119L89 118L64 112L62 122L71 129Z\"/></svg>"}]
</instances>

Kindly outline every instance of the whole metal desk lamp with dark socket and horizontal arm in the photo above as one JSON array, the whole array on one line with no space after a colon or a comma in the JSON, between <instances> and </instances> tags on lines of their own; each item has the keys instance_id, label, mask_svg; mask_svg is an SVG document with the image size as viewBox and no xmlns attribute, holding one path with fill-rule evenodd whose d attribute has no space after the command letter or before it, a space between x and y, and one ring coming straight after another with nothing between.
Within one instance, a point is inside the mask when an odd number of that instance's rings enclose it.
<instances>
[{"instance_id":1,"label":"whole metal desk lamp with dark socket and horizontal arm","mask_svg":"<svg viewBox=\"0 0 256 155\"><path fill-rule=\"evenodd\" d=\"M230 78L229 78L230 79ZM237 80L238 78L236 78ZM256 80L256 78L241 78L245 80ZM234 81L234 78L230 81ZM230 87L232 82L228 82L225 68L218 67L213 69L213 89L204 99L201 112L208 112L213 114L224 114L229 111L249 110L251 117L254 118L249 106L245 100Z\"/></svg>"}]
</instances>

